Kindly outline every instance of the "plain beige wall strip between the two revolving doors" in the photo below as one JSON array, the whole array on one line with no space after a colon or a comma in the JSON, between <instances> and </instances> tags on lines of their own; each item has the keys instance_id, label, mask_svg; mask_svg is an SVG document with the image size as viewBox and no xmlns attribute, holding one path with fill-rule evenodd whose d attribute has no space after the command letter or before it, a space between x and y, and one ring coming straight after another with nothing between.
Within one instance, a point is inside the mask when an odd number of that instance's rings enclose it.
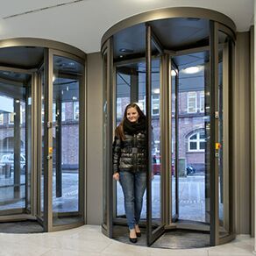
<instances>
[{"instance_id":1,"label":"plain beige wall strip between the two revolving doors","mask_svg":"<svg viewBox=\"0 0 256 256\"><path fill-rule=\"evenodd\" d=\"M100 53L90 53L87 81L87 224L101 224L103 215L103 82Z\"/></svg>"}]
</instances>

